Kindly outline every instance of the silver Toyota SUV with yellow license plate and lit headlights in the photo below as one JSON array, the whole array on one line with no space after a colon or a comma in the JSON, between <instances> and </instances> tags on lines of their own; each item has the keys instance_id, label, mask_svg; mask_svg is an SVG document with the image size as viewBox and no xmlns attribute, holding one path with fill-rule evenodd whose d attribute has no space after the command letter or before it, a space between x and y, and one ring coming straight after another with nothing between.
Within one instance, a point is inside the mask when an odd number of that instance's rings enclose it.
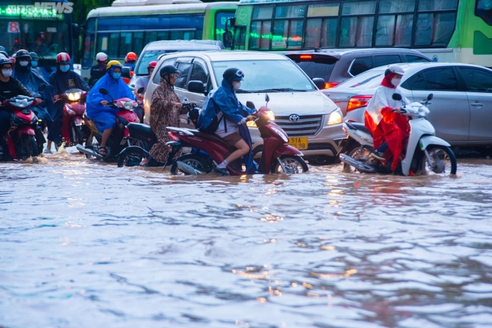
<instances>
[{"instance_id":1,"label":"silver Toyota SUV with yellow license plate and lit headlights","mask_svg":"<svg viewBox=\"0 0 492 328\"><path fill-rule=\"evenodd\" d=\"M252 101L256 108L265 104L275 114L275 122L289 136L289 144L302 150L311 164L333 160L338 151L338 141L344 138L341 128L341 111L333 101L314 85L299 66L287 57L268 52L253 51L205 51L182 52L163 56L157 63L145 93L145 121L150 114L152 93L157 86L160 67L175 65L180 71L175 91L183 99L203 106L205 97L222 82L222 73L229 67L237 67L245 74L238 99L246 104ZM188 90L190 81L200 81L201 92ZM249 128L253 139L253 151L263 146L258 129Z\"/></svg>"}]
</instances>

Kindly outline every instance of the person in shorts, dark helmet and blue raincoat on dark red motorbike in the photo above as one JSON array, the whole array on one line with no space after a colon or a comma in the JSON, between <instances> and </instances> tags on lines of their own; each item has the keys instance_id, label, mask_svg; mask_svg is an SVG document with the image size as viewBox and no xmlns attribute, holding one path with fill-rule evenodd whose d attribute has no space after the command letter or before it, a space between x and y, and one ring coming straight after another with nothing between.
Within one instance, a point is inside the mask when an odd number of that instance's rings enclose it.
<instances>
[{"instance_id":1,"label":"person in shorts, dark helmet and blue raincoat on dark red motorbike","mask_svg":"<svg viewBox=\"0 0 492 328\"><path fill-rule=\"evenodd\" d=\"M236 148L215 167L215 171L228 175L227 165L243 156L246 174L252 174L256 172L257 166L253 161L251 136L246 121L254 119L251 114L255 109L239 102L235 93L235 90L241 88L243 71L230 67L224 71L222 77L221 86L207 96L197 124L200 130L215 133Z\"/></svg>"}]
</instances>

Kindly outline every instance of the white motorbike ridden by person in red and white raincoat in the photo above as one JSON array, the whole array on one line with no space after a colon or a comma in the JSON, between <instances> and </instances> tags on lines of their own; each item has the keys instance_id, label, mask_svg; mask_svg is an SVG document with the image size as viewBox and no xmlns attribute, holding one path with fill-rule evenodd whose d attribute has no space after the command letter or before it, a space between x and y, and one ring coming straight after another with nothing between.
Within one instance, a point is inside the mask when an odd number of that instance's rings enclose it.
<instances>
[{"instance_id":1,"label":"white motorbike ridden by person in red and white raincoat","mask_svg":"<svg viewBox=\"0 0 492 328\"><path fill-rule=\"evenodd\" d=\"M402 101L401 95L393 94L393 99ZM400 161L397 172L403 176L417 173L456 174L457 164L451 145L441 138L435 136L435 129L425 117L430 113L427 108L432 99L432 93L427 97L425 104L412 102L405 104L402 101L400 114L408 118L410 135L404 147L404 158ZM340 143L341 151L339 158L344 163L344 171L359 171L361 173L390 174L391 156L381 161L369 156L373 150L371 132L362 123L345 121L343 123L347 137ZM356 147L355 145L359 145ZM406 150L406 151L405 151ZM390 152L389 150L387 152ZM397 159L398 160L398 159Z\"/></svg>"}]
</instances>

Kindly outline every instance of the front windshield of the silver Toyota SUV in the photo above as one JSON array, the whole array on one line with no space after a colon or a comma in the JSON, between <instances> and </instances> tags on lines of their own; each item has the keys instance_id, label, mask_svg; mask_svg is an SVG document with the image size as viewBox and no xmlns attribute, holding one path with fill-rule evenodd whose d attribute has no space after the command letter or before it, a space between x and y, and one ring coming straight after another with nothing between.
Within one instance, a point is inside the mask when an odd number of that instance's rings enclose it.
<instances>
[{"instance_id":1,"label":"front windshield of the silver Toyota SUV","mask_svg":"<svg viewBox=\"0 0 492 328\"><path fill-rule=\"evenodd\" d=\"M316 87L304 72L291 60L228 60L212 62L217 85L229 67L244 72L241 89L237 93L314 91Z\"/></svg>"}]
</instances>

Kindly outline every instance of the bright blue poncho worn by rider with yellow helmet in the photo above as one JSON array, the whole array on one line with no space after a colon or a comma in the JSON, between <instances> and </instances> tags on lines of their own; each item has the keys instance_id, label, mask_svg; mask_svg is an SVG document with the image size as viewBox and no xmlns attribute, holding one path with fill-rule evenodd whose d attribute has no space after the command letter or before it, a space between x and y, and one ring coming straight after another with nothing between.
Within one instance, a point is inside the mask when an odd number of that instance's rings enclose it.
<instances>
[{"instance_id":1,"label":"bright blue poncho worn by rider with yellow helmet","mask_svg":"<svg viewBox=\"0 0 492 328\"><path fill-rule=\"evenodd\" d=\"M87 116L95 121L97 130L100 132L115 127L116 113L118 109L110 106L101 105L101 101L116 100L120 98L130 98L135 100L135 96L131 89L124 83L122 78L115 80L110 74L110 69L102 78L100 78L92 87L91 91L87 94L86 113ZM104 88L108 90L108 94L104 95L99 92L99 89Z\"/></svg>"}]
</instances>

